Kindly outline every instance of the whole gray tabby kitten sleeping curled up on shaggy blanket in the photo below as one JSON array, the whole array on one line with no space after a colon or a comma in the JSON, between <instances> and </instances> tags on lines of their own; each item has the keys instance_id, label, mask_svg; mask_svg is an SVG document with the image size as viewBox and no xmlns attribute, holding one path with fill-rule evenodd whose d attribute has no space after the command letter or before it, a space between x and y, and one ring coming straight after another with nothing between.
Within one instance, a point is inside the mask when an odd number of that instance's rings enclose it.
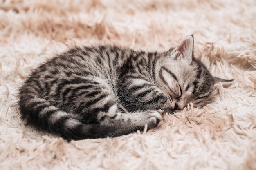
<instances>
[{"instance_id":1,"label":"whole gray tabby kitten sleeping curled up on shaggy blanket","mask_svg":"<svg viewBox=\"0 0 256 170\"><path fill-rule=\"evenodd\" d=\"M116 137L157 126L213 99L215 78L193 56L193 35L166 52L76 47L36 68L19 91L22 118L65 139ZM228 81L217 79L217 82Z\"/></svg>"}]
</instances>

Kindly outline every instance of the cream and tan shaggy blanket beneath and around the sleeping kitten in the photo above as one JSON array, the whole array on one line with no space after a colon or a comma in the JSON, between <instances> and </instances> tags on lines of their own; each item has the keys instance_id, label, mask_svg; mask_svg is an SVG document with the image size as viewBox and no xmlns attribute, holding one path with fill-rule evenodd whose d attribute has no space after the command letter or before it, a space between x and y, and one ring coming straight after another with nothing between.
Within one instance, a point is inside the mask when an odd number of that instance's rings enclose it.
<instances>
[{"instance_id":1,"label":"cream and tan shaggy blanket beneath and around the sleeping kitten","mask_svg":"<svg viewBox=\"0 0 256 170\"><path fill-rule=\"evenodd\" d=\"M168 49L194 33L215 76L215 101L164 114L114 139L64 141L24 125L17 89L31 69L74 45ZM0 169L255 170L255 0L0 0Z\"/></svg>"}]
</instances>

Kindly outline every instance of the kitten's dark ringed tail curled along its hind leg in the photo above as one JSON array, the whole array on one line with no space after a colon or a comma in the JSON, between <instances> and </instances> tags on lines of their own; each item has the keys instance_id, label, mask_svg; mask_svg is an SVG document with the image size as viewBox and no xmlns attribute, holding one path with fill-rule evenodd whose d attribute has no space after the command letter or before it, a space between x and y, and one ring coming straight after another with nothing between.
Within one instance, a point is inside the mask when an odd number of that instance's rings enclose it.
<instances>
[{"instance_id":1,"label":"kitten's dark ringed tail curled along its hind leg","mask_svg":"<svg viewBox=\"0 0 256 170\"><path fill-rule=\"evenodd\" d=\"M19 109L27 124L47 132L59 133L64 139L105 138L115 131L112 127L81 123L70 113L59 110L45 99L20 95Z\"/></svg>"}]
</instances>

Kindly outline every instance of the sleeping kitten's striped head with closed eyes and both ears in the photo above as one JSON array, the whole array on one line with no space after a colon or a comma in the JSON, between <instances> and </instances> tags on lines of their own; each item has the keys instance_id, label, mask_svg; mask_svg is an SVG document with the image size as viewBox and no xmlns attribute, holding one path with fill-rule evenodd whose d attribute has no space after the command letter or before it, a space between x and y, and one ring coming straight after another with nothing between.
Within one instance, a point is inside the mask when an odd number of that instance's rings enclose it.
<instances>
[{"instance_id":1,"label":"sleeping kitten's striped head with closed eyes and both ears","mask_svg":"<svg viewBox=\"0 0 256 170\"><path fill-rule=\"evenodd\" d=\"M213 100L214 84L232 81L213 77L193 56L193 46L193 35L189 35L164 53L159 67L157 84L170 97L171 107L175 110L190 102L195 107L205 106Z\"/></svg>"}]
</instances>

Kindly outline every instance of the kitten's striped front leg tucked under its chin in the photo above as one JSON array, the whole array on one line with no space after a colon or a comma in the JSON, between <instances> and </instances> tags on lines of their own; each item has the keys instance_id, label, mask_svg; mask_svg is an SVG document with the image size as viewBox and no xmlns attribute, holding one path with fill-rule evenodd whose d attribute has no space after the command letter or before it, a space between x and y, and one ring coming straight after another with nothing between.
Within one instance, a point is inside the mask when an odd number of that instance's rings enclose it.
<instances>
[{"instance_id":1,"label":"kitten's striped front leg tucked under its chin","mask_svg":"<svg viewBox=\"0 0 256 170\"><path fill-rule=\"evenodd\" d=\"M142 78L127 78L119 84L122 105L128 111L164 110L172 113L175 104L155 84Z\"/></svg>"}]
</instances>

